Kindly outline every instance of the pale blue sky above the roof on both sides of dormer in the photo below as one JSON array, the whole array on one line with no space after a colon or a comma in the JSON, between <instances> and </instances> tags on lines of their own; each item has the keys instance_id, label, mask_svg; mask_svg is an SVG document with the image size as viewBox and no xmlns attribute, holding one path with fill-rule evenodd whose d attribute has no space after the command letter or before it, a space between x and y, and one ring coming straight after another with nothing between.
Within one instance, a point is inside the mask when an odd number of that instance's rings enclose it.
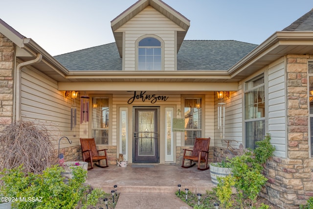
<instances>
[{"instance_id":1,"label":"pale blue sky above the roof on both sides of dormer","mask_svg":"<svg viewBox=\"0 0 313 209\"><path fill-rule=\"evenodd\" d=\"M190 20L185 40L261 44L313 0L163 0ZM111 21L136 0L6 0L0 19L52 56L115 42Z\"/></svg>"}]
</instances>

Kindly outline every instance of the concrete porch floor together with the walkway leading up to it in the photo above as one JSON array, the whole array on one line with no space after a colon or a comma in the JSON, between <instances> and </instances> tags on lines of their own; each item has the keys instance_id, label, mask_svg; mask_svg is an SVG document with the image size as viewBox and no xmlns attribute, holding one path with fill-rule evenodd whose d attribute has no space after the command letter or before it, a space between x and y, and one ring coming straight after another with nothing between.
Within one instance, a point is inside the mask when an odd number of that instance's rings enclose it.
<instances>
[{"instance_id":1,"label":"concrete porch floor together with the walkway leading up to it","mask_svg":"<svg viewBox=\"0 0 313 209\"><path fill-rule=\"evenodd\" d=\"M177 185L181 191L205 193L215 185L210 170L200 171L197 165L182 168L180 165L149 164L153 167L127 167L110 165L94 167L88 171L87 184L110 193L117 185L119 194L115 209L192 209L176 197ZM144 164L147 166L147 164Z\"/></svg>"}]
</instances>

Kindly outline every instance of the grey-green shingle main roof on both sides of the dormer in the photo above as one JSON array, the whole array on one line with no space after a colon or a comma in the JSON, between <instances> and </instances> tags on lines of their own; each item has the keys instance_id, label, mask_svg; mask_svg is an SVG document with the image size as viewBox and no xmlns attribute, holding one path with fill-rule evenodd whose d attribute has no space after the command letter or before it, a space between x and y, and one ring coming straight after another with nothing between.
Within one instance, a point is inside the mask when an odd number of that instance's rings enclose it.
<instances>
[{"instance_id":1,"label":"grey-green shingle main roof on both sides of the dormer","mask_svg":"<svg viewBox=\"0 0 313 209\"><path fill-rule=\"evenodd\" d=\"M177 55L177 70L228 70L256 46L239 41L183 41ZM122 70L122 58L115 43L54 58L68 70Z\"/></svg>"}]
</instances>

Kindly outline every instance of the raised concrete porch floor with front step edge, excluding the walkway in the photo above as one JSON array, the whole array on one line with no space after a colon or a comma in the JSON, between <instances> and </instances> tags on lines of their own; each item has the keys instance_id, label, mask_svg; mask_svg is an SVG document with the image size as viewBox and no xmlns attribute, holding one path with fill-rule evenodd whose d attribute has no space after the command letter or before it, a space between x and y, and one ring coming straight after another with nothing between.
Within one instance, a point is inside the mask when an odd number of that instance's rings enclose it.
<instances>
[{"instance_id":1,"label":"raised concrete porch floor with front step edge, excluding the walkway","mask_svg":"<svg viewBox=\"0 0 313 209\"><path fill-rule=\"evenodd\" d=\"M153 167L127 167L110 165L107 168L94 166L88 171L87 184L111 192L117 185L118 192L175 193L188 188L193 193L205 193L215 185L211 182L210 170L200 171L197 165L182 168L180 165L149 164ZM141 164L140 164L141 165ZM147 164L143 164L148 166Z\"/></svg>"}]
</instances>

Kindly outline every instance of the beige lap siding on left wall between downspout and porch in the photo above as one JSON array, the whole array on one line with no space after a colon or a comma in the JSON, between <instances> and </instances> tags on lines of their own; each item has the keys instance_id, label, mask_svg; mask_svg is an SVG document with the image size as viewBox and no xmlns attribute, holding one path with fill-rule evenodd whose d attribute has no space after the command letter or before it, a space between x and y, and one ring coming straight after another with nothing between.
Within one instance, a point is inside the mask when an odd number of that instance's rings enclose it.
<instances>
[{"instance_id":1,"label":"beige lap siding on left wall between downspout and porch","mask_svg":"<svg viewBox=\"0 0 313 209\"><path fill-rule=\"evenodd\" d=\"M33 120L45 125L51 131L56 148L58 140L66 136L72 140L71 146L79 145L78 121L76 137L74 130L70 131L71 99L65 98L63 92L57 90L57 82L51 80L37 70L24 68L22 70L21 119ZM79 118L79 104L77 119ZM60 142L60 148L68 147L67 140Z\"/></svg>"}]
</instances>

